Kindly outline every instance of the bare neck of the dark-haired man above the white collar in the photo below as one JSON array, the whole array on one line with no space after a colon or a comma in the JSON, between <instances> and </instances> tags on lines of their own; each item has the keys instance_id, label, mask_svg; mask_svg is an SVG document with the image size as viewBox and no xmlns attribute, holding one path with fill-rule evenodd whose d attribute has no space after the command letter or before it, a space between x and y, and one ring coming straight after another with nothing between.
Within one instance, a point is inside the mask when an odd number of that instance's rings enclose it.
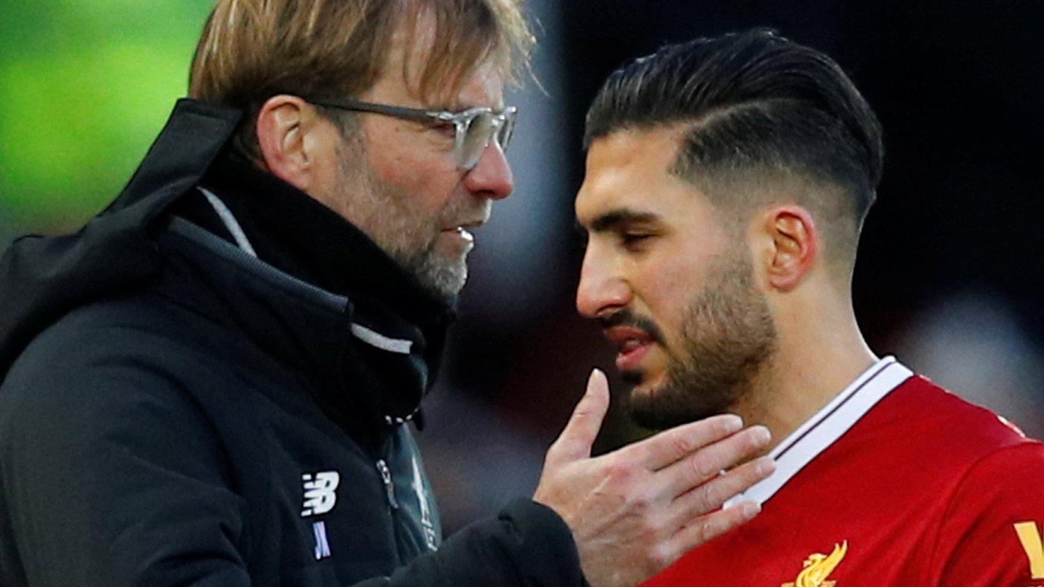
<instances>
[{"instance_id":1,"label":"bare neck of the dark-haired man above the white collar","mask_svg":"<svg viewBox=\"0 0 1044 587\"><path fill-rule=\"evenodd\" d=\"M752 381L750 393L734 412L751 424L763 424L773 433L772 450L790 432L840 394L870 368L877 356L863 341L851 304L778 320L778 348Z\"/></svg>"}]
</instances>

